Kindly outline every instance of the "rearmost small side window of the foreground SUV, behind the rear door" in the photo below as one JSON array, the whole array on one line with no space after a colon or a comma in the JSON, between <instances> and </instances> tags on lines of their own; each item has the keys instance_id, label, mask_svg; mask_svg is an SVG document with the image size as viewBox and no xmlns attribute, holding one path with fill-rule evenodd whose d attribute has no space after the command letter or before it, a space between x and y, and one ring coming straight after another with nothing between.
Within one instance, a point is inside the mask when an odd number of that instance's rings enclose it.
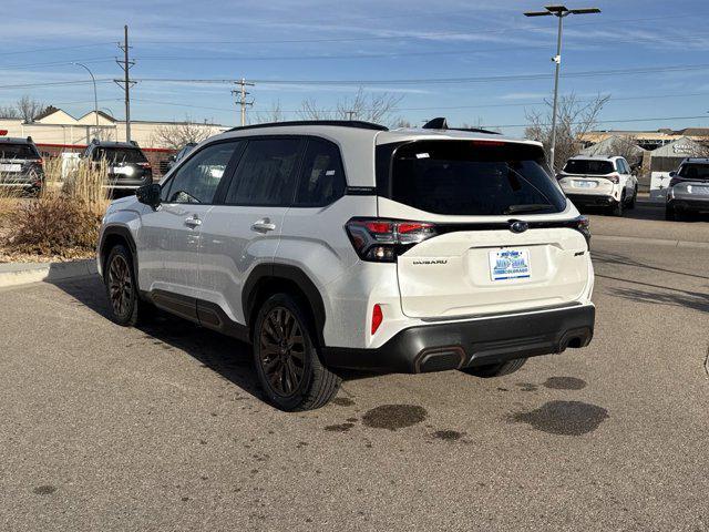
<instances>
[{"instance_id":1,"label":"rearmost small side window of the foreground SUV, behind the rear door","mask_svg":"<svg viewBox=\"0 0 709 532\"><path fill-rule=\"evenodd\" d=\"M321 139L308 141L295 205L329 205L345 194L345 171L337 144Z\"/></svg>"}]
</instances>

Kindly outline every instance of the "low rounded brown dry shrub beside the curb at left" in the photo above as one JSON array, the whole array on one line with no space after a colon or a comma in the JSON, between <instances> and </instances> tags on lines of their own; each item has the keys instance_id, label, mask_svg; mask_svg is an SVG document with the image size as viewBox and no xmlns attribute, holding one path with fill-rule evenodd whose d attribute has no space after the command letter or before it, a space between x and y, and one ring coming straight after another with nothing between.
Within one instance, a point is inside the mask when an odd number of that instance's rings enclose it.
<instances>
[{"instance_id":1,"label":"low rounded brown dry shrub beside the curb at left","mask_svg":"<svg viewBox=\"0 0 709 532\"><path fill-rule=\"evenodd\" d=\"M14 252L71 257L96 247L102 213L80 198L50 195L20 208L10 244Z\"/></svg>"}]
</instances>

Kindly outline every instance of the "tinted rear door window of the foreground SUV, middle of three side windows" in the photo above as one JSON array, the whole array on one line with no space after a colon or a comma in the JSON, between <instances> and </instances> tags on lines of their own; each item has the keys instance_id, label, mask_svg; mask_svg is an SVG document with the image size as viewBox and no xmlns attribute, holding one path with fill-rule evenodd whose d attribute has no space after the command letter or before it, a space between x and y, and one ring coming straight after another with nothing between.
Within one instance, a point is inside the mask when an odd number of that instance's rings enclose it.
<instances>
[{"instance_id":1,"label":"tinted rear door window of the foreground SUV, middle of three side windows","mask_svg":"<svg viewBox=\"0 0 709 532\"><path fill-rule=\"evenodd\" d=\"M300 157L299 139L251 140L246 146L225 203L290 205Z\"/></svg>"}]
</instances>

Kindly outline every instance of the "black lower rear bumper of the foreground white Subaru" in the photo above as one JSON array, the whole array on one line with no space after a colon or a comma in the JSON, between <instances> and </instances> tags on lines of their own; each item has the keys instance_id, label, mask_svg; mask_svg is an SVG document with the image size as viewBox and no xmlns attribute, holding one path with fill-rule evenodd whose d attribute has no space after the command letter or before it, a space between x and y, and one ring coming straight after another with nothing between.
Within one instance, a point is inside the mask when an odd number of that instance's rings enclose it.
<instances>
[{"instance_id":1,"label":"black lower rear bumper of the foreground white Subaru","mask_svg":"<svg viewBox=\"0 0 709 532\"><path fill-rule=\"evenodd\" d=\"M330 347L322 350L322 356L332 368L398 374L444 371L585 347L593 338L594 323L593 305L575 305L411 327L377 349Z\"/></svg>"}]
</instances>

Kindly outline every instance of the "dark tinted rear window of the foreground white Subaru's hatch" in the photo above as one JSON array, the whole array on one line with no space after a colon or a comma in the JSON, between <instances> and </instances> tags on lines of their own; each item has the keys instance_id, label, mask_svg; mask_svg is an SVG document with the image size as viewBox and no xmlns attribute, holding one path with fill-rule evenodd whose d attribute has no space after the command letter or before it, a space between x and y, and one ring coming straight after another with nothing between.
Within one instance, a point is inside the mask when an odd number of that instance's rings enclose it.
<instances>
[{"instance_id":1,"label":"dark tinted rear window of the foreground white Subaru's hatch","mask_svg":"<svg viewBox=\"0 0 709 532\"><path fill-rule=\"evenodd\" d=\"M429 213L512 215L557 213L566 207L542 150L533 145L413 142L394 151L390 175L389 191L380 188L380 193Z\"/></svg>"}]
</instances>

